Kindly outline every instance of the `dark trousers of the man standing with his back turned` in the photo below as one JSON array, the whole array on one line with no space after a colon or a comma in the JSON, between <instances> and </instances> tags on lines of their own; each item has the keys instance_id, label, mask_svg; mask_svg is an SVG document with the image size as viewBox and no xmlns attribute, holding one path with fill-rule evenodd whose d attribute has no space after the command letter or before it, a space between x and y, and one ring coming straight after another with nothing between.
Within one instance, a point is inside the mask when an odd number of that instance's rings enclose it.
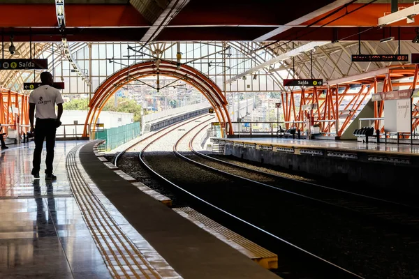
<instances>
[{"instance_id":1,"label":"dark trousers of the man standing with his back turned","mask_svg":"<svg viewBox=\"0 0 419 279\"><path fill-rule=\"evenodd\" d=\"M34 151L34 172L39 172L41 169L41 153L43 149L43 141L47 140L47 158L45 164L45 174L52 174L52 163L54 162L54 147L55 147L55 119L36 119L35 123L35 151Z\"/></svg>"}]
</instances>

